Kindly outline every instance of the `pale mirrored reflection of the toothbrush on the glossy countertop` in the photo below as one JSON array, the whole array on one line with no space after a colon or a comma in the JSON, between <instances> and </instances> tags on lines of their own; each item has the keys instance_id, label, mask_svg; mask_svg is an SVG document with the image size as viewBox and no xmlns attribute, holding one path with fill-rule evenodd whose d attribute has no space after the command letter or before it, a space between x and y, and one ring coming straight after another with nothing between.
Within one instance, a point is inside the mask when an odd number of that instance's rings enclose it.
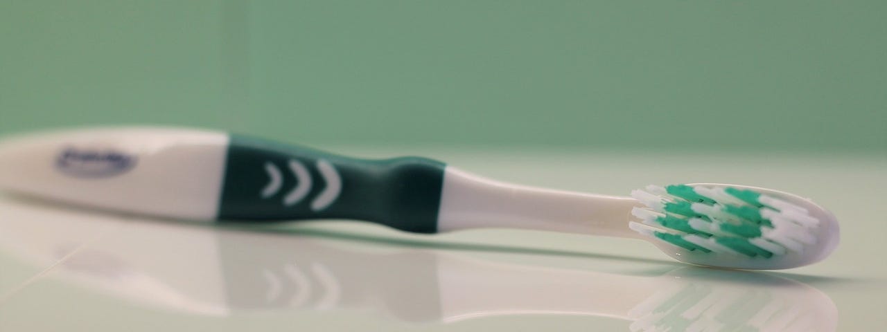
<instances>
[{"instance_id":1,"label":"pale mirrored reflection of the toothbrush on the glossy countertop","mask_svg":"<svg viewBox=\"0 0 887 332\"><path fill-rule=\"evenodd\" d=\"M399 320L447 323L583 315L631 320L632 331L836 330L837 309L828 295L769 274L694 266L608 274L544 266L544 259L534 266L519 254L505 263L433 245L342 241L337 236L348 234L329 228L283 235L274 228L259 233L131 221L0 197L0 254L40 266L58 262L47 277L131 300L136 309L240 316L372 309ZM106 236L77 241L96 234ZM522 263L514 263L514 255ZM82 301L74 298L51 307Z\"/></svg>"}]
</instances>

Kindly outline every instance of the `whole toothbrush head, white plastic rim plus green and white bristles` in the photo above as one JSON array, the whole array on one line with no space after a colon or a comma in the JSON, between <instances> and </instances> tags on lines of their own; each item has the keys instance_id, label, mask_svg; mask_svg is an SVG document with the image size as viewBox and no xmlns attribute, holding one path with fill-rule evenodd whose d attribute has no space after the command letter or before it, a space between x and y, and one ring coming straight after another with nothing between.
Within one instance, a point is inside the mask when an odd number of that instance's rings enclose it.
<instances>
[{"instance_id":1,"label":"whole toothbrush head, white plastic rim plus green and white bristles","mask_svg":"<svg viewBox=\"0 0 887 332\"><path fill-rule=\"evenodd\" d=\"M726 184L648 186L632 191L629 228L683 262L782 269L825 259L838 243L835 216L809 199Z\"/></svg>"}]
</instances>

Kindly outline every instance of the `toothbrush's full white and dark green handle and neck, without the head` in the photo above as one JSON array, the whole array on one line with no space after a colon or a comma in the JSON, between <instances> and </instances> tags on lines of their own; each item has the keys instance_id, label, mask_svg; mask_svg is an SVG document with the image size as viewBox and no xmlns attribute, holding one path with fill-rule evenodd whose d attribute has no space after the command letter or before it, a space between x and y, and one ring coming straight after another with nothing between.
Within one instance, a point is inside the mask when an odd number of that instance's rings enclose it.
<instances>
[{"instance_id":1,"label":"toothbrush's full white and dark green handle and neck, without the head","mask_svg":"<svg viewBox=\"0 0 887 332\"><path fill-rule=\"evenodd\" d=\"M109 127L0 142L0 189L182 220L353 219L414 233L637 236L631 197L492 181L427 158L367 160L212 130Z\"/></svg>"}]
</instances>

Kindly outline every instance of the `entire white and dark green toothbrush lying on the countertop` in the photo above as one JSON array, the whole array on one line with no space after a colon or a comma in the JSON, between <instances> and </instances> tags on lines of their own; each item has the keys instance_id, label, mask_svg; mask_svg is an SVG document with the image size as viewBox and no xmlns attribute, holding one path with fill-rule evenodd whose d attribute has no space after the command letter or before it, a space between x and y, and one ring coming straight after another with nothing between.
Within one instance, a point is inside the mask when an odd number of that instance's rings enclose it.
<instances>
[{"instance_id":1,"label":"entire white and dark green toothbrush lying on the countertop","mask_svg":"<svg viewBox=\"0 0 887 332\"><path fill-rule=\"evenodd\" d=\"M355 219L416 233L530 228L636 237L675 259L738 268L811 264L838 240L831 213L770 189L679 185L607 197L491 181L428 158L346 158L180 128L13 139L0 145L0 187L187 220Z\"/></svg>"}]
</instances>

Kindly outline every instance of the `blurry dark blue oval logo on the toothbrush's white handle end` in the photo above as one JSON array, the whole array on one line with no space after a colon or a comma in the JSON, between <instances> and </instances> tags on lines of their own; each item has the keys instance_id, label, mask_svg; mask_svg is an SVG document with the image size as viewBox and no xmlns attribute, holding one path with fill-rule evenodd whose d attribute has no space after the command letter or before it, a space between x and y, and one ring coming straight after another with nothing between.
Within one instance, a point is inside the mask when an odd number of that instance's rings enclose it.
<instances>
[{"instance_id":1,"label":"blurry dark blue oval logo on the toothbrush's white handle end","mask_svg":"<svg viewBox=\"0 0 887 332\"><path fill-rule=\"evenodd\" d=\"M102 178L123 174L136 166L136 157L117 151L90 151L67 148L56 159L61 173L82 178Z\"/></svg>"}]
</instances>

